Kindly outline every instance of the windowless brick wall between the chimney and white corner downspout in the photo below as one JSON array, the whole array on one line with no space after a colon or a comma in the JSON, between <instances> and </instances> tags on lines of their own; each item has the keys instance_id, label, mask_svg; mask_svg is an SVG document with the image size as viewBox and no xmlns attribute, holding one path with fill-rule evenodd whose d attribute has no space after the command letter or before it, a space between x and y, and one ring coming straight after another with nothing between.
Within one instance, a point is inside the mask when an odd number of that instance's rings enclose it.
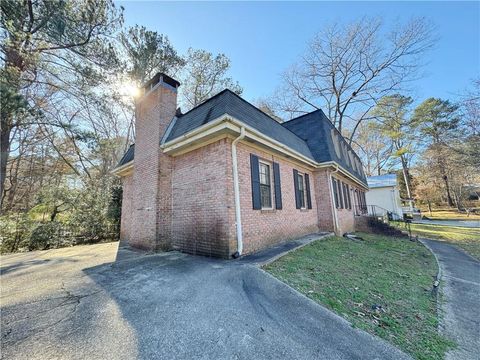
<instances>
[{"instance_id":1,"label":"windowless brick wall between the chimney and white corner downspout","mask_svg":"<svg viewBox=\"0 0 480 360\"><path fill-rule=\"evenodd\" d=\"M233 195L231 147L219 140L176 156L172 179L172 246L228 258Z\"/></svg>"}]
</instances>

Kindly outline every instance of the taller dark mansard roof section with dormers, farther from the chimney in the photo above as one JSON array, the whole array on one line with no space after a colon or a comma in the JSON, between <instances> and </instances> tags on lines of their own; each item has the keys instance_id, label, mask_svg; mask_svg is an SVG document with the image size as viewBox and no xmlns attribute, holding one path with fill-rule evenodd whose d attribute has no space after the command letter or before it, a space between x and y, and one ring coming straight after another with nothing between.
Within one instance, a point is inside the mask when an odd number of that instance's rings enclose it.
<instances>
[{"instance_id":1,"label":"taller dark mansard roof section with dormers, farther from the chimney","mask_svg":"<svg viewBox=\"0 0 480 360\"><path fill-rule=\"evenodd\" d=\"M367 183L360 158L322 110L299 116L282 125L305 141L317 162L335 161Z\"/></svg>"}]
</instances>

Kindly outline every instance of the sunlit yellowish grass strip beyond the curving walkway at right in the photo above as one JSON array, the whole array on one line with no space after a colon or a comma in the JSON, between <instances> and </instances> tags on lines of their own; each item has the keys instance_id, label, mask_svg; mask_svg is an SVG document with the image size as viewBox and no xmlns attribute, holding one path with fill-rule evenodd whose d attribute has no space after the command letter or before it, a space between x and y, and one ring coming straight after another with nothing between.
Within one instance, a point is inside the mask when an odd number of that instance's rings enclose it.
<instances>
[{"instance_id":1,"label":"sunlit yellowish grass strip beyond the curving walkway at right","mask_svg":"<svg viewBox=\"0 0 480 360\"><path fill-rule=\"evenodd\" d=\"M403 230L403 225L399 226ZM445 225L411 224L412 233L430 239L442 240L461 247L480 259L480 229Z\"/></svg>"}]
</instances>

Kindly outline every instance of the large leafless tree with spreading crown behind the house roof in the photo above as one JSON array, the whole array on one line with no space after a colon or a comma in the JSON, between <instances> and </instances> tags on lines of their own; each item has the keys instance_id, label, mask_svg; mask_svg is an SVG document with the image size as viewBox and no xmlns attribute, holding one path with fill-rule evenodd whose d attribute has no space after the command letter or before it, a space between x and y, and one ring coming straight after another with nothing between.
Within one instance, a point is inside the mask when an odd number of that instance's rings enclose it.
<instances>
[{"instance_id":1,"label":"large leafless tree with spreading crown behind the house roof","mask_svg":"<svg viewBox=\"0 0 480 360\"><path fill-rule=\"evenodd\" d=\"M340 132L351 120L352 140L378 99L418 75L421 58L435 42L433 26L424 18L390 31L377 18L333 24L316 34L304 56L284 72L274 97L277 107L290 117L323 108Z\"/></svg>"}]
</instances>

